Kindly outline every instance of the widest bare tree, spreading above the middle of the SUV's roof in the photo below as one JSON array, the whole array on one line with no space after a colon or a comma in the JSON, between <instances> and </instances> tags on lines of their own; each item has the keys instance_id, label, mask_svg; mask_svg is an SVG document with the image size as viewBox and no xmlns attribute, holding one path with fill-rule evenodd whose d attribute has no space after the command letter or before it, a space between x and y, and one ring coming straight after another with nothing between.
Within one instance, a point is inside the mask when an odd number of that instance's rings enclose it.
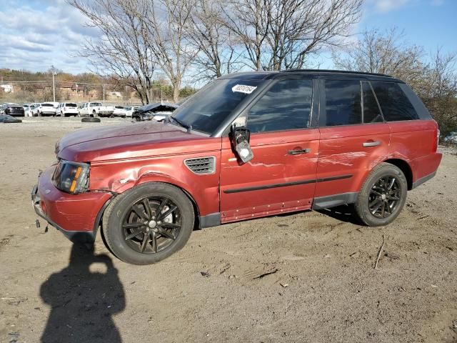
<instances>
[{"instance_id":1,"label":"widest bare tree, spreading above the middle of the SUV's roof","mask_svg":"<svg viewBox=\"0 0 457 343\"><path fill-rule=\"evenodd\" d=\"M221 0L223 1L223 0ZM224 0L226 26L254 70L303 68L323 48L341 46L363 0Z\"/></svg>"}]
</instances>

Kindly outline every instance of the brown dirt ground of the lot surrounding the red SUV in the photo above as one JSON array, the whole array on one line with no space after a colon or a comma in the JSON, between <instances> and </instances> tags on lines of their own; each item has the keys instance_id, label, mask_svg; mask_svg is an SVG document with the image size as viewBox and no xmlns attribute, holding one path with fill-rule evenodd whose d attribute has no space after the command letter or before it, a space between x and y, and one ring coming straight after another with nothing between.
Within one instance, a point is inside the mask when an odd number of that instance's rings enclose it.
<instances>
[{"instance_id":1,"label":"brown dirt ground of the lot surrounding the red SUV","mask_svg":"<svg viewBox=\"0 0 457 343\"><path fill-rule=\"evenodd\" d=\"M388 227L348 207L268 217L195 231L138 267L100 236L93 252L35 227L55 141L94 125L0 124L0 342L457 342L456 151Z\"/></svg>"}]
</instances>

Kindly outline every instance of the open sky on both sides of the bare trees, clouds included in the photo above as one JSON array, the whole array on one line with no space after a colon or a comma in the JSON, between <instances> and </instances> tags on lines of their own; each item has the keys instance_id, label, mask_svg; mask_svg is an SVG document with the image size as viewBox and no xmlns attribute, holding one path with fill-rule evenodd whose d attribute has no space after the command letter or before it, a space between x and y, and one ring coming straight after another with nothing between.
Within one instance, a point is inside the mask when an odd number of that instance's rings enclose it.
<instances>
[{"instance_id":1,"label":"open sky on both sides of the bare trees, clouds included","mask_svg":"<svg viewBox=\"0 0 457 343\"><path fill-rule=\"evenodd\" d=\"M46 71L51 64L71 73L88 70L76 57L85 39L96 31L65 0L2 0L0 68ZM366 0L360 23L365 29L404 30L408 43L433 51L457 51L457 0ZM331 68L323 56L321 67Z\"/></svg>"}]
</instances>

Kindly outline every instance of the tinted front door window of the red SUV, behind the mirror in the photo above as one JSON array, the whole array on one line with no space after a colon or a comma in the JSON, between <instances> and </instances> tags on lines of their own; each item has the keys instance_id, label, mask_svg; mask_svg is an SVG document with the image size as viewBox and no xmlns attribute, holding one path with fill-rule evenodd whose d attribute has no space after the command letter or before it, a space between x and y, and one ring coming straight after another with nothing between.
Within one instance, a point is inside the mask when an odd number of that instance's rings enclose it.
<instances>
[{"instance_id":1,"label":"tinted front door window of the red SUV, behind the mirror","mask_svg":"<svg viewBox=\"0 0 457 343\"><path fill-rule=\"evenodd\" d=\"M251 132L306 129L311 118L313 81L277 81L251 107L247 127Z\"/></svg>"}]
</instances>

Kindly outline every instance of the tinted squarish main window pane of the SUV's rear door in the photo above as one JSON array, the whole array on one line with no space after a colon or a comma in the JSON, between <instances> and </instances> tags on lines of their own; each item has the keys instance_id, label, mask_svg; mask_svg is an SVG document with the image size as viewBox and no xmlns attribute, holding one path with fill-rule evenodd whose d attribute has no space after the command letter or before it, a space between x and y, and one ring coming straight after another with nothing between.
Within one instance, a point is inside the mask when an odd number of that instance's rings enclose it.
<instances>
[{"instance_id":1,"label":"tinted squarish main window pane of the SUV's rear door","mask_svg":"<svg viewBox=\"0 0 457 343\"><path fill-rule=\"evenodd\" d=\"M326 126L361 124L360 81L325 81Z\"/></svg>"}]
</instances>

